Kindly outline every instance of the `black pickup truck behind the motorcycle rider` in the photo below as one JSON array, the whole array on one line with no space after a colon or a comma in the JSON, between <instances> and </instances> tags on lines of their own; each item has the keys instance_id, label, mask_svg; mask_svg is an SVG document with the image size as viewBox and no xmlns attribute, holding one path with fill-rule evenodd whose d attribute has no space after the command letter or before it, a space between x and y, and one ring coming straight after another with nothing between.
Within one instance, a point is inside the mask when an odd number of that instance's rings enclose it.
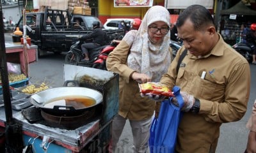
<instances>
[{"instance_id":1,"label":"black pickup truck behind the motorcycle rider","mask_svg":"<svg viewBox=\"0 0 256 153\"><path fill-rule=\"evenodd\" d=\"M26 34L31 43L38 46L38 56L47 51L56 54L67 52L77 36L92 32L92 22L99 18L86 15L72 15L67 10L46 9L42 12L26 13ZM77 24L79 23L79 24ZM101 24L101 22L100 22ZM101 24L102 25L102 24ZM16 25L23 31L23 17ZM106 30L106 43L124 36L123 29Z\"/></svg>"}]
</instances>

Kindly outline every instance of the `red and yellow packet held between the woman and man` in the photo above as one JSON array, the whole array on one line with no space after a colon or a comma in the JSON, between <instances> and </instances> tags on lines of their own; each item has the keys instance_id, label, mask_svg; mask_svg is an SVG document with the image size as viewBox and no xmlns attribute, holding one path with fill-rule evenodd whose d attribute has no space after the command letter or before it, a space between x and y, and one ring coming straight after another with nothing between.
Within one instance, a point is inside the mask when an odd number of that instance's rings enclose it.
<instances>
[{"instance_id":1,"label":"red and yellow packet held between the woman and man","mask_svg":"<svg viewBox=\"0 0 256 153\"><path fill-rule=\"evenodd\" d=\"M173 92L157 82L147 82L145 84L139 84L140 92L143 94L158 94L161 96L173 97Z\"/></svg>"}]
</instances>

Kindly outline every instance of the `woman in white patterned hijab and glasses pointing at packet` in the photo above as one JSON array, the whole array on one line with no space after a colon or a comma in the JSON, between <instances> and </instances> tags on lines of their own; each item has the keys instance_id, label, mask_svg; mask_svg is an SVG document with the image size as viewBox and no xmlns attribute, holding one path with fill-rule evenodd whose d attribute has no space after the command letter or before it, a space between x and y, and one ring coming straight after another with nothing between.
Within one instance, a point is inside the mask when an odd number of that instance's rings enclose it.
<instances>
[{"instance_id":1,"label":"woman in white patterned hijab and glasses pointing at packet","mask_svg":"<svg viewBox=\"0 0 256 153\"><path fill-rule=\"evenodd\" d=\"M112 124L110 150L129 119L133 136L133 152L147 152L149 129L155 102L142 98L138 83L159 82L171 63L170 14L163 6L152 6L143 18L138 31L125 34L109 54L107 68L120 75L119 109Z\"/></svg>"}]
</instances>

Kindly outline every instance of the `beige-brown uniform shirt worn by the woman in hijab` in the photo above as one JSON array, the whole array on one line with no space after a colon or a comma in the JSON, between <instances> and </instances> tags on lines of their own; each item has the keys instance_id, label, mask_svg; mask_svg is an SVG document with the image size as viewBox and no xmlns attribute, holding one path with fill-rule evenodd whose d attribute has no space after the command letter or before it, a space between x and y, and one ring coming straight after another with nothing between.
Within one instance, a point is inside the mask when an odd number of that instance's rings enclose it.
<instances>
[{"instance_id":1,"label":"beige-brown uniform shirt worn by the woman in hijab","mask_svg":"<svg viewBox=\"0 0 256 153\"><path fill-rule=\"evenodd\" d=\"M129 48L125 41L121 41L107 59L108 70L119 74L118 114L131 120L149 119L154 113L155 102L147 96L142 98L138 82L130 78L134 70L127 66Z\"/></svg>"}]
</instances>

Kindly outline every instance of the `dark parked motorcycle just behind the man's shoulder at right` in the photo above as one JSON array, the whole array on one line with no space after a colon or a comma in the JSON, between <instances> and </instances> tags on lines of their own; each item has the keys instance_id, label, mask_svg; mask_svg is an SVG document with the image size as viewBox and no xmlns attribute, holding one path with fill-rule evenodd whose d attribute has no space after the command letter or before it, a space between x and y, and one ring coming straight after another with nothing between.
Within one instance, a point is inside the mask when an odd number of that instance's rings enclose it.
<instances>
[{"instance_id":1,"label":"dark parked motorcycle just behind the man's shoulder at right","mask_svg":"<svg viewBox=\"0 0 256 153\"><path fill-rule=\"evenodd\" d=\"M252 47L248 47L248 45L244 43L236 43L232 46L239 54L243 55L243 57L249 62L252 62Z\"/></svg>"}]
</instances>

